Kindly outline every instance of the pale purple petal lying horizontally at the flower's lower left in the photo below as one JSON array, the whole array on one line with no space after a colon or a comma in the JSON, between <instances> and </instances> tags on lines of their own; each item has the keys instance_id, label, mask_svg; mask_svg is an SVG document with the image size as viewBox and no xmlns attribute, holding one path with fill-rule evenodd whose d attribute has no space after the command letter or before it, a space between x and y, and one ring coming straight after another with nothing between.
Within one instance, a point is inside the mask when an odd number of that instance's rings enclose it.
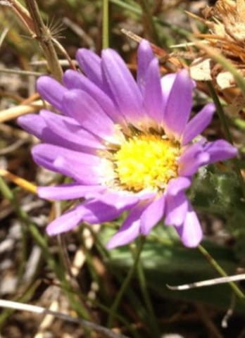
<instances>
[{"instance_id":1,"label":"pale purple petal lying horizontally at the flower's lower left","mask_svg":"<svg viewBox=\"0 0 245 338\"><path fill-rule=\"evenodd\" d=\"M80 199L92 192L102 192L104 187L99 185L81 185L79 183L68 183L56 185L55 187L38 187L38 196L42 199Z\"/></svg>"}]
</instances>

